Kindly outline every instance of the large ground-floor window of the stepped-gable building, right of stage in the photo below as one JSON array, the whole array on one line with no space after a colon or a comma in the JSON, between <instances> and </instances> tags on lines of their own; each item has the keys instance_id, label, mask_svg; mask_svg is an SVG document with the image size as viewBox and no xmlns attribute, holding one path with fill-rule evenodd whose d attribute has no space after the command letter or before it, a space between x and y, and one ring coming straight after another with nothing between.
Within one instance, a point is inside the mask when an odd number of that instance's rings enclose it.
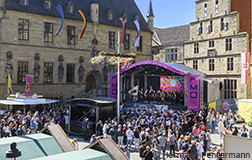
<instances>
[{"instance_id":1,"label":"large ground-floor window of the stepped-gable building, right of stage","mask_svg":"<svg viewBox=\"0 0 252 160\"><path fill-rule=\"evenodd\" d=\"M224 98L236 99L237 98L237 80L224 79Z\"/></svg>"}]
</instances>

